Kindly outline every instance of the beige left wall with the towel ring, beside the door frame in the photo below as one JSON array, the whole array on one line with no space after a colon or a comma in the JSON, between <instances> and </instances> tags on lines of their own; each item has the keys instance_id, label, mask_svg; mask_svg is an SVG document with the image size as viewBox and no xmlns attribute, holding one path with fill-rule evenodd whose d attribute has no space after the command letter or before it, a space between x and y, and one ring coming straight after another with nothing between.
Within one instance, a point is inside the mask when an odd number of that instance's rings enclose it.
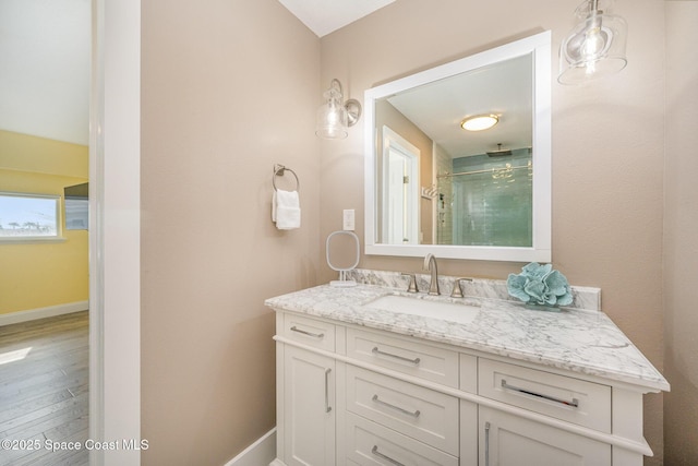
<instances>
[{"instance_id":1,"label":"beige left wall with the towel ring, beside the door frame","mask_svg":"<svg viewBox=\"0 0 698 466\"><path fill-rule=\"evenodd\" d=\"M320 40L276 0L142 13L143 464L220 465L275 425L264 299L317 280ZM274 164L298 230L270 222Z\"/></svg>"}]
</instances>

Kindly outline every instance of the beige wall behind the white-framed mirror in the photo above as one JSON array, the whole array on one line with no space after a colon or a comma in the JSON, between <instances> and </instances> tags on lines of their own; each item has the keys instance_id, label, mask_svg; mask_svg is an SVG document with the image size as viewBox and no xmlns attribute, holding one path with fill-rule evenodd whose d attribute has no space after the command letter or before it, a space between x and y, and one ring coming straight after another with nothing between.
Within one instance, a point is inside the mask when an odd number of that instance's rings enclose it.
<instances>
[{"instance_id":1,"label":"beige wall behind the white-framed mirror","mask_svg":"<svg viewBox=\"0 0 698 466\"><path fill-rule=\"evenodd\" d=\"M322 39L322 80L351 97L395 77L538 33L556 50L578 0L399 0ZM661 370L664 2L617 2L629 24L628 67L583 86L553 85L553 263L603 290L603 309ZM363 138L323 145L321 236L357 208L363 234ZM419 271L419 259L364 256L361 266ZM520 263L440 261L440 272L505 278ZM325 267L323 280L333 275ZM662 464L662 395L645 397L645 432Z\"/></svg>"}]
</instances>

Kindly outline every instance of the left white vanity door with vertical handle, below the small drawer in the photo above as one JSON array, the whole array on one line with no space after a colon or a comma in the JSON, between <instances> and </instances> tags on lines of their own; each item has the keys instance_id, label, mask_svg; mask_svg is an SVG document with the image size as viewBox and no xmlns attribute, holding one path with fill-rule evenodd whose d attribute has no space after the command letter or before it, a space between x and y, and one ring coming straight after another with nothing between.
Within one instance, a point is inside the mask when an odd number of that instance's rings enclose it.
<instances>
[{"instance_id":1,"label":"left white vanity door with vertical handle, below the small drawer","mask_svg":"<svg viewBox=\"0 0 698 466\"><path fill-rule=\"evenodd\" d=\"M284 353L285 462L335 464L335 361L287 346Z\"/></svg>"}]
</instances>

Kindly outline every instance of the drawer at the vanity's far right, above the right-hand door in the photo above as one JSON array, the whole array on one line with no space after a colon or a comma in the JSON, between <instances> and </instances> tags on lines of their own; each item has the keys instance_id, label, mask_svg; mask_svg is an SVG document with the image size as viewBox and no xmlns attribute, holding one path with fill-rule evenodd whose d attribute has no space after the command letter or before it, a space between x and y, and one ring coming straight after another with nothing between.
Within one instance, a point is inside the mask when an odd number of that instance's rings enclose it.
<instances>
[{"instance_id":1,"label":"drawer at the vanity's far right, above the right-hand door","mask_svg":"<svg viewBox=\"0 0 698 466\"><path fill-rule=\"evenodd\" d=\"M611 387L480 358L478 393L568 422L611 432Z\"/></svg>"}]
</instances>

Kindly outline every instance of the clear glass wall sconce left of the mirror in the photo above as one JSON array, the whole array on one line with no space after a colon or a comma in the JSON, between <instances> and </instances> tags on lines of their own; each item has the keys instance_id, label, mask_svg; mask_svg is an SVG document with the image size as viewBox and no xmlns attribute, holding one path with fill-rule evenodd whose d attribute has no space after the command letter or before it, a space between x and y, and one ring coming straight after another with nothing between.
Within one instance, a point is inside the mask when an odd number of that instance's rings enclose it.
<instances>
[{"instance_id":1,"label":"clear glass wall sconce left of the mirror","mask_svg":"<svg viewBox=\"0 0 698 466\"><path fill-rule=\"evenodd\" d=\"M327 103L317 109L315 134L329 140L347 138L347 128L354 126L361 117L361 104L354 98L342 104L341 83L338 80L332 80L323 96Z\"/></svg>"}]
</instances>

